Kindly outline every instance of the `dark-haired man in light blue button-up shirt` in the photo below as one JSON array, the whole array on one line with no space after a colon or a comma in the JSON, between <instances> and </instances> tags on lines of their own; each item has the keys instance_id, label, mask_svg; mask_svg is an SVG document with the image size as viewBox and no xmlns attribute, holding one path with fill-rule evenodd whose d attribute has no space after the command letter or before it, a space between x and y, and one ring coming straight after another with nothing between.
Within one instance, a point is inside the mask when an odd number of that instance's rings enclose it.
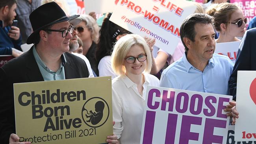
<instances>
[{"instance_id":1,"label":"dark-haired man in light blue button-up shirt","mask_svg":"<svg viewBox=\"0 0 256 144\"><path fill-rule=\"evenodd\" d=\"M211 16L195 13L187 17L180 27L185 54L163 71L160 86L228 95L234 64L228 57L214 54L214 37Z\"/></svg>"}]
</instances>

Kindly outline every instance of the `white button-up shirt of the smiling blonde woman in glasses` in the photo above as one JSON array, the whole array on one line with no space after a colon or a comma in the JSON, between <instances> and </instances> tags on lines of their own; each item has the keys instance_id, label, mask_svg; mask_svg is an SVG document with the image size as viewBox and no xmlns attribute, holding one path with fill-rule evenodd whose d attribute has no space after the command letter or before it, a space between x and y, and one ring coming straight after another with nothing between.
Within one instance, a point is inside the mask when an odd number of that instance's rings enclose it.
<instances>
[{"instance_id":1,"label":"white button-up shirt of the smiling blonde woman in glasses","mask_svg":"<svg viewBox=\"0 0 256 144\"><path fill-rule=\"evenodd\" d=\"M121 144L139 144L143 121L143 110L147 85L159 87L159 79L144 74L143 94L139 94L137 85L127 76L118 76L112 80L112 107L114 134Z\"/></svg>"}]
</instances>

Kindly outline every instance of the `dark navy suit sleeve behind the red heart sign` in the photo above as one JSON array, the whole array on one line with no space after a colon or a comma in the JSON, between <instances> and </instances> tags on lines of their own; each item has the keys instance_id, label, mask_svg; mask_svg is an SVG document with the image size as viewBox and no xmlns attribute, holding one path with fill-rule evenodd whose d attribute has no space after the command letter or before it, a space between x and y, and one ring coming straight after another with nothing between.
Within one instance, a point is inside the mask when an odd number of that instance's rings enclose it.
<instances>
[{"instance_id":1,"label":"dark navy suit sleeve behind the red heart sign","mask_svg":"<svg viewBox=\"0 0 256 144\"><path fill-rule=\"evenodd\" d=\"M236 85L237 85L237 71L238 70L251 70L251 55L252 54L252 48L253 47L253 42L254 38L256 36L252 35L256 32L254 31L246 31L245 35L241 41L241 44L239 46L238 54L237 54L237 59L236 63L234 65L233 72L230 76L230 79L228 81L229 89L230 89L230 94L233 96L233 100L236 101Z\"/></svg>"}]
</instances>

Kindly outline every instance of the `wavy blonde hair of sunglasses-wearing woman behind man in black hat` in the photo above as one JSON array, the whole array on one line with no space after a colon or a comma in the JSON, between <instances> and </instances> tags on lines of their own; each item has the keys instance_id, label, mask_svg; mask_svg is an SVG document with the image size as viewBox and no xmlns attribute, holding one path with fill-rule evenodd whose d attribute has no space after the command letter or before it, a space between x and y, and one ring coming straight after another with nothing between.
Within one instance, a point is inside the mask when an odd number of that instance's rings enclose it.
<instances>
[{"instance_id":1,"label":"wavy blonde hair of sunglasses-wearing woman behind man in black hat","mask_svg":"<svg viewBox=\"0 0 256 144\"><path fill-rule=\"evenodd\" d=\"M85 22L86 27L89 29L89 31L91 31L91 39L97 44L100 28L96 23L96 20L89 15L80 15L79 18Z\"/></svg>"}]
</instances>

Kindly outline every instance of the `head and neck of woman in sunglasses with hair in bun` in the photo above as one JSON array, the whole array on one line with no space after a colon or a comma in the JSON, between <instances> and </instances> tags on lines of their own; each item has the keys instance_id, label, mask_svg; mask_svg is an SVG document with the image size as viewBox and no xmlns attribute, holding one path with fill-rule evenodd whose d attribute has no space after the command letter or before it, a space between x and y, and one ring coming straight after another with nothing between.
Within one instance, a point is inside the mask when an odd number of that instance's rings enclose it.
<instances>
[{"instance_id":1,"label":"head and neck of woman in sunglasses with hair in bun","mask_svg":"<svg viewBox=\"0 0 256 144\"><path fill-rule=\"evenodd\" d=\"M206 13L214 17L215 29L219 32L217 43L240 41L237 37L243 37L246 30L247 18L234 4L213 4Z\"/></svg>"}]
</instances>

